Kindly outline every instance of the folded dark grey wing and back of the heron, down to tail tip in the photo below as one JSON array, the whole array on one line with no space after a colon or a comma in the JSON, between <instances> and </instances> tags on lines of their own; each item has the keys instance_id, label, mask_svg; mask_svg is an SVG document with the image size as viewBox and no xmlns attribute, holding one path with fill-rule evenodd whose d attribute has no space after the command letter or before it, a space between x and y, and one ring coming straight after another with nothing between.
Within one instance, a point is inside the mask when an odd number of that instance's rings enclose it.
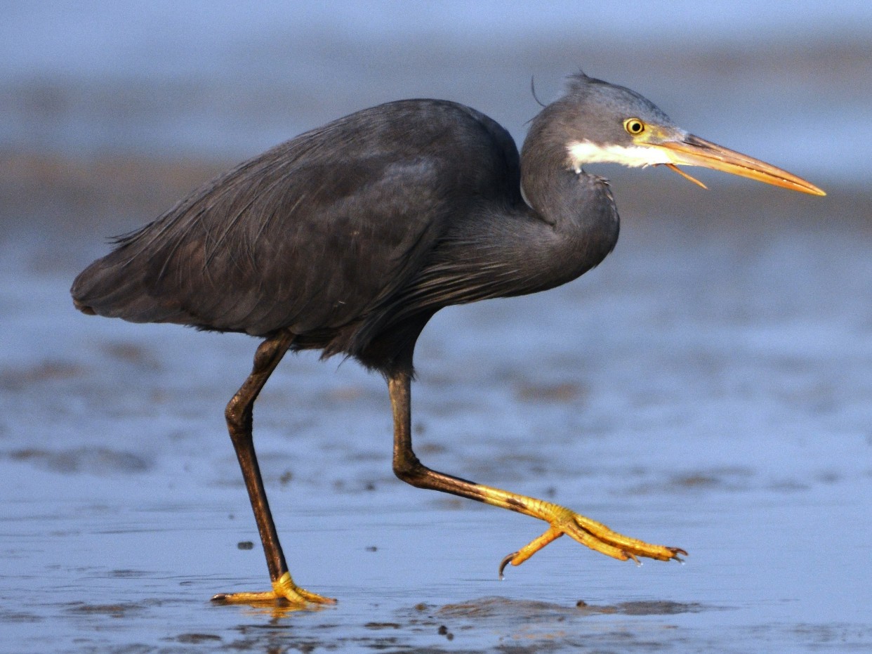
<instances>
[{"instance_id":1,"label":"folded dark grey wing and back of the heron, down to tail tip","mask_svg":"<svg viewBox=\"0 0 872 654\"><path fill-rule=\"evenodd\" d=\"M291 330L319 347L341 336L331 351L354 353L347 344L366 340L355 330L370 325L371 337L379 312L397 311L454 222L483 198L520 193L517 158L508 133L467 107L373 107L276 146L120 237L72 293L100 315ZM466 283L443 297L462 297Z\"/></svg>"}]
</instances>

